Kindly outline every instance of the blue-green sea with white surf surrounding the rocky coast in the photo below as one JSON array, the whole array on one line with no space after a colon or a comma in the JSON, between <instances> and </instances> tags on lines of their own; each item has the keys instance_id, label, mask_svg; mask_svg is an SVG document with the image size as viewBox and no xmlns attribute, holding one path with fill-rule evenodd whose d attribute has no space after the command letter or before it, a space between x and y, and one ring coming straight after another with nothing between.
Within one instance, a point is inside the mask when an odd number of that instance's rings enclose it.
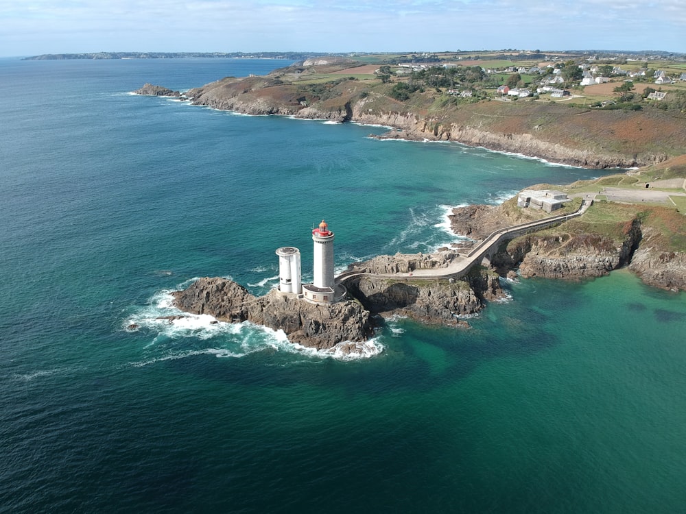
<instances>
[{"instance_id":1,"label":"blue-green sea with white surf surrounding the rocky coast","mask_svg":"<svg viewBox=\"0 0 686 514\"><path fill-rule=\"evenodd\" d=\"M342 271L613 172L132 94L288 64L0 59L0 512L686 512L686 295L628 271L377 319L355 358L158 319L203 276L267 293L284 245L311 280L322 219Z\"/></svg>"}]
</instances>

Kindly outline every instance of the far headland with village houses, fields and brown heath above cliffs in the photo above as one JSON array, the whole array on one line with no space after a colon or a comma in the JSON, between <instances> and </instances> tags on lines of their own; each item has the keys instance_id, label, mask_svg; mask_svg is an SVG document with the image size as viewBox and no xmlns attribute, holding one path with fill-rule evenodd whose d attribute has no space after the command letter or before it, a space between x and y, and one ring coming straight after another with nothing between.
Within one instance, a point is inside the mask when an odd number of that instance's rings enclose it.
<instances>
[{"instance_id":1,"label":"far headland with village houses, fields and brown heath above cliffs","mask_svg":"<svg viewBox=\"0 0 686 514\"><path fill-rule=\"evenodd\" d=\"M392 130L379 137L451 140L589 168L686 154L680 61L490 57L316 57L264 76L225 77L182 97L246 114L387 125Z\"/></svg>"}]
</instances>

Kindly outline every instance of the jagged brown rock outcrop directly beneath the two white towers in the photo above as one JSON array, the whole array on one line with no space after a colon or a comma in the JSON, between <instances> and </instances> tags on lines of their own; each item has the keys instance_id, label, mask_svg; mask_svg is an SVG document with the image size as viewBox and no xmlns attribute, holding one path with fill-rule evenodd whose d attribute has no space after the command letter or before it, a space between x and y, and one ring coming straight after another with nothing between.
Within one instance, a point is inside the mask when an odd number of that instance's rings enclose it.
<instances>
[{"instance_id":1,"label":"jagged brown rock outcrop directly beneath the two white towers","mask_svg":"<svg viewBox=\"0 0 686 514\"><path fill-rule=\"evenodd\" d=\"M366 341L372 334L368 311L353 301L329 306L309 304L271 291L255 297L226 278L201 278L174 293L176 306L187 313L209 314L220 321L250 321L283 330L289 341L326 350L344 341Z\"/></svg>"}]
</instances>

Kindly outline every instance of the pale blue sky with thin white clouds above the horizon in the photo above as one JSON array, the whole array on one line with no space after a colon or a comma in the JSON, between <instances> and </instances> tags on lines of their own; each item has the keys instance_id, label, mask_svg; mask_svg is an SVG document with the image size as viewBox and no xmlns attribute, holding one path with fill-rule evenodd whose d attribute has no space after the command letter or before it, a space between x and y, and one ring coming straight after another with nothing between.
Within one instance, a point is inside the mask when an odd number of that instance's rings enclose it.
<instances>
[{"instance_id":1,"label":"pale blue sky with thin white clouds above the horizon","mask_svg":"<svg viewBox=\"0 0 686 514\"><path fill-rule=\"evenodd\" d=\"M0 0L0 56L95 51L686 52L685 0Z\"/></svg>"}]
</instances>

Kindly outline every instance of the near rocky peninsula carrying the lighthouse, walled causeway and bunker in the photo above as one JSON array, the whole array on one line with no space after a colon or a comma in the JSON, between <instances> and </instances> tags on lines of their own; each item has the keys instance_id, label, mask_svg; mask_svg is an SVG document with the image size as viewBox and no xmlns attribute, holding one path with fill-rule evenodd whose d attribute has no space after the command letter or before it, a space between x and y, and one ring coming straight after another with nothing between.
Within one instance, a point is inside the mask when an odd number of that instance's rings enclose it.
<instances>
[{"instance_id":1,"label":"near rocky peninsula carrying the lighthouse, walled causeway and bunker","mask_svg":"<svg viewBox=\"0 0 686 514\"><path fill-rule=\"evenodd\" d=\"M298 249L283 247L276 250L279 287L268 295L203 278L174 293L176 306L283 330L318 350L357 353L373 334L372 315L469 327L464 317L504 296L501 276L579 280L628 267L652 286L686 291L685 157L556 186L563 191L545 187L497 207L455 208L453 230L473 238L471 246L378 256L335 277L333 232L322 221L312 234L313 284L300 284Z\"/></svg>"}]
</instances>

